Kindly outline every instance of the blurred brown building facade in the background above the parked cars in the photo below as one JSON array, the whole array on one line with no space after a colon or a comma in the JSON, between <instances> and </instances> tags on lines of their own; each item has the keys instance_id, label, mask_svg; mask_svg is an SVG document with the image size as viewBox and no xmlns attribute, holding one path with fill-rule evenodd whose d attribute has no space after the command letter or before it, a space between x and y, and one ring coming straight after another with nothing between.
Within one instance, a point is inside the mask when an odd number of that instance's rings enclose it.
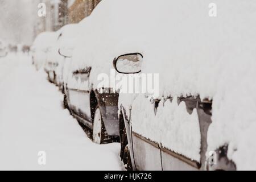
<instances>
[{"instance_id":1,"label":"blurred brown building facade in the background above the parked cars","mask_svg":"<svg viewBox=\"0 0 256 182\"><path fill-rule=\"evenodd\" d=\"M46 17L36 19L34 36L44 31L57 31L65 24L79 23L89 16L101 0L35 0L36 10L39 3L46 5Z\"/></svg>"}]
</instances>

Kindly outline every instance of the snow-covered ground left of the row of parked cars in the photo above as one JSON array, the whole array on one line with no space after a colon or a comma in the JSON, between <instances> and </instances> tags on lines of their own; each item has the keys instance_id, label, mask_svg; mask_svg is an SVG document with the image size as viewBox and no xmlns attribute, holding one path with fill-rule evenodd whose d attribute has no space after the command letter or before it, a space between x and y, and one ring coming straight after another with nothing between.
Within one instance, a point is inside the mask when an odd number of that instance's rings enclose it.
<instances>
[{"instance_id":1,"label":"snow-covered ground left of the row of parked cars","mask_svg":"<svg viewBox=\"0 0 256 182\"><path fill-rule=\"evenodd\" d=\"M25 55L0 58L0 169L119 170L119 143L94 144ZM46 152L46 165L38 152Z\"/></svg>"}]
</instances>

